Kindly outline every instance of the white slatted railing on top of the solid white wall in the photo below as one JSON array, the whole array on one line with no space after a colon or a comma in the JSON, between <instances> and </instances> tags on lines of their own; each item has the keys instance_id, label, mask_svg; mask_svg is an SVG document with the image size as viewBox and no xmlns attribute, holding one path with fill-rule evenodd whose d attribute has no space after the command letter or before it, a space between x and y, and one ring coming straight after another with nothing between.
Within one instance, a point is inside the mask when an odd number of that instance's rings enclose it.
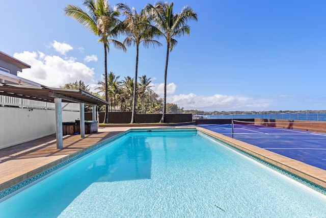
<instances>
[{"instance_id":1,"label":"white slatted railing on top of the solid white wall","mask_svg":"<svg viewBox=\"0 0 326 218\"><path fill-rule=\"evenodd\" d=\"M62 103L63 111L79 111L79 104ZM20 99L11 96L0 95L0 107L19 107L42 110L55 110L55 103L41 102L30 99Z\"/></svg>"}]
</instances>

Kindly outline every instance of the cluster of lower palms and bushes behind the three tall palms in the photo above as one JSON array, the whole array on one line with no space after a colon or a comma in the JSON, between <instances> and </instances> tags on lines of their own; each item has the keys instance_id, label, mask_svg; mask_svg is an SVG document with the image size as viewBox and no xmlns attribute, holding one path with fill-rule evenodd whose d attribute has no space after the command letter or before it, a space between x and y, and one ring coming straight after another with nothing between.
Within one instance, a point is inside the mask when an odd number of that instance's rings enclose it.
<instances>
[{"instance_id":1,"label":"cluster of lower palms and bushes behind the three tall palms","mask_svg":"<svg viewBox=\"0 0 326 218\"><path fill-rule=\"evenodd\" d=\"M132 98L133 98L133 78L125 77L123 80L119 80L120 76L115 76L113 72L108 75L108 105L109 111L131 111L132 110ZM162 113L163 101L159 98L150 86L151 78L147 78L146 75L139 77L136 88L136 113ZM83 89L98 98L104 99L104 82L98 81L99 86L96 88L98 92L91 92L88 85L82 80L74 83L67 83L60 88L65 89ZM189 113L184 111L177 104L167 103L167 113ZM91 111L92 107L85 105L85 111ZM103 106L99 106L99 111L104 111Z\"/></svg>"}]
</instances>

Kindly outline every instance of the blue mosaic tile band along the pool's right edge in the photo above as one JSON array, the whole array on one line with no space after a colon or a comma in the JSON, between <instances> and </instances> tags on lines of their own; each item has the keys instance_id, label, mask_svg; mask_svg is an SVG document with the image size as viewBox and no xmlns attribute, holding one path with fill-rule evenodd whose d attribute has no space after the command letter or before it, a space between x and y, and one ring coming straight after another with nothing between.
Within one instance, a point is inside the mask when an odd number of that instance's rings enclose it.
<instances>
[{"instance_id":1,"label":"blue mosaic tile band along the pool's right edge","mask_svg":"<svg viewBox=\"0 0 326 218\"><path fill-rule=\"evenodd\" d=\"M202 133L204 136L207 136L207 137L209 137L209 138L211 138L211 139L213 139L213 140L215 140L215 141L217 141L219 143L222 143L224 146L226 146L226 147L228 147L228 148L230 148L230 149L232 149L232 150L234 150L234 151L236 151L236 152L238 152L238 153L240 153L240 154L242 154L244 156L247 156L247 157L249 157L249 158L251 158L251 159L253 159L253 160L255 160L255 161L257 161L257 162L259 162L261 164L263 164L264 166L267 166L267 167L269 167L271 169L274 169L274 171L276 171L276 172L278 172L278 173L280 173L282 175L285 175L285 176L287 176L287 177L289 177L289 178L291 178L291 179L293 179L293 180L295 180L297 182L300 182L303 185L306 185L307 187L309 187L309 188L311 188L311 189L313 189L313 190L315 190L315 191L317 191L319 193L322 193L323 195L326 195L326 188L324 188L324 187L322 187L322 186L320 186L320 185L318 185L318 184L316 184L314 182L311 182L311 181L309 181L307 179L304 179L304 178L302 178L302 177L300 177L300 176L298 176L296 174L288 172L285 169L283 169L283 168L281 168L279 166L276 166L276 165L274 165L272 163L269 163L269 162L267 162L265 160L262 160L262 159L254 156L252 154L249 154L249 153L244 152L244 151L242 151L242 150L240 150L238 148L235 148L235 147L231 146L230 144L219 140L218 138L215 138L215 137L213 137L211 135L208 135L208 134L206 134L204 132L201 132L201 131L200 131L200 133Z\"/></svg>"}]
</instances>

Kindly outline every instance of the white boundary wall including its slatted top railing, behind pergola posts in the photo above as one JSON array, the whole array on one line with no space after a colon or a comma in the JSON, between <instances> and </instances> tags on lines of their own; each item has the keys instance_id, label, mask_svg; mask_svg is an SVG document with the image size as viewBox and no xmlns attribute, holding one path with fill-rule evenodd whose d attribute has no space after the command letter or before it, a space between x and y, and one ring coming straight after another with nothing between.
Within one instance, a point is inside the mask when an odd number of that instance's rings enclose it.
<instances>
[{"instance_id":1,"label":"white boundary wall including its slatted top railing, behind pergola posts","mask_svg":"<svg viewBox=\"0 0 326 218\"><path fill-rule=\"evenodd\" d=\"M78 103L62 103L62 121L80 118ZM55 104L0 95L0 149L56 133Z\"/></svg>"}]
</instances>

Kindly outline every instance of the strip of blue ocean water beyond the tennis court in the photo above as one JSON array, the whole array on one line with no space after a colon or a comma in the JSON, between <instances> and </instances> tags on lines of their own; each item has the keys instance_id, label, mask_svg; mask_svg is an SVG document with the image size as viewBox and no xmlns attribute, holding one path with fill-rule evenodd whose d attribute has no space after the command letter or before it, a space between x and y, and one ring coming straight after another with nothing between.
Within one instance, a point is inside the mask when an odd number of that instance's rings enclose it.
<instances>
[{"instance_id":1,"label":"strip of blue ocean water beyond the tennis court","mask_svg":"<svg viewBox=\"0 0 326 218\"><path fill-rule=\"evenodd\" d=\"M260 118L260 119L288 119L288 120L310 120L326 121L326 113L260 113L260 114L207 114L200 115L206 119L241 119L241 118Z\"/></svg>"}]
</instances>

